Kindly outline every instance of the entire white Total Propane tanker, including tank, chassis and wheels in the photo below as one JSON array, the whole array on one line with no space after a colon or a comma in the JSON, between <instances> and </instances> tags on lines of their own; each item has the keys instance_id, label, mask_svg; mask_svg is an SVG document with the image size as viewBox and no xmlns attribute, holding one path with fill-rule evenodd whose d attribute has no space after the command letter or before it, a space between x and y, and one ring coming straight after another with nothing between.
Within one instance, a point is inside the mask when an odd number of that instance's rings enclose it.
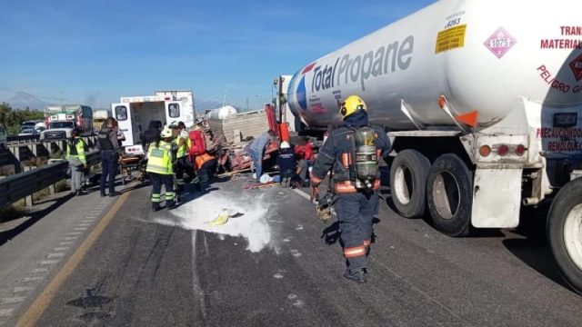
<instances>
[{"instance_id":1,"label":"entire white Total Propane tanker, including tank, chassis and wheels","mask_svg":"<svg viewBox=\"0 0 582 327\"><path fill-rule=\"evenodd\" d=\"M306 64L286 101L303 129L367 104L393 143L390 192L406 217L466 236L517 227L551 203L547 237L582 293L579 0L441 0ZM546 205L547 208L547 205Z\"/></svg>"}]
</instances>

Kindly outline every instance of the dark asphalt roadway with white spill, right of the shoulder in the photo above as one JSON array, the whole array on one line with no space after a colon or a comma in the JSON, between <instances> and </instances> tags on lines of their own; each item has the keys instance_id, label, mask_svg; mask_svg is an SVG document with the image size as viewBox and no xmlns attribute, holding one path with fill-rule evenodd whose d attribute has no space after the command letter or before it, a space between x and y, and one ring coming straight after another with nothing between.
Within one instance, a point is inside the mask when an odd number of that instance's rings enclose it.
<instances>
[{"instance_id":1,"label":"dark asphalt roadway with white spill, right of the shoulder","mask_svg":"<svg viewBox=\"0 0 582 327\"><path fill-rule=\"evenodd\" d=\"M305 193L246 182L214 183L173 212L151 212L149 187L125 193L8 323L582 325L582 298L536 228L453 239L399 217L385 192L368 282L356 284L342 277L336 224L317 221ZM224 208L238 214L212 225Z\"/></svg>"}]
</instances>

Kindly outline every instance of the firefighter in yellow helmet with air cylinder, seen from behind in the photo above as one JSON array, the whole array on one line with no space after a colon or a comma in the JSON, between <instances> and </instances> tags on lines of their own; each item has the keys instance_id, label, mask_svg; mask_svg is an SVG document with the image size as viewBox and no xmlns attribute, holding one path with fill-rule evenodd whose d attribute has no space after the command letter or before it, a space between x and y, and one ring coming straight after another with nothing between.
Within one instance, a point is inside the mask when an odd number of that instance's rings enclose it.
<instances>
[{"instance_id":1,"label":"firefighter in yellow helmet with air cylinder, seen from behind","mask_svg":"<svg viewBox=\"0 0 582 327\"><path fill-rule=\"evenodd\" d=\"M317 193L316 187L332 170L334 205L347 264L344 277L355 282L366 282L380 189L378 160L391 147L383 128L368 124L366 111L359 96L346 98L340 107L344 124L329 134L311 173L312 191Z\"/></svg>"}]
</instances>

